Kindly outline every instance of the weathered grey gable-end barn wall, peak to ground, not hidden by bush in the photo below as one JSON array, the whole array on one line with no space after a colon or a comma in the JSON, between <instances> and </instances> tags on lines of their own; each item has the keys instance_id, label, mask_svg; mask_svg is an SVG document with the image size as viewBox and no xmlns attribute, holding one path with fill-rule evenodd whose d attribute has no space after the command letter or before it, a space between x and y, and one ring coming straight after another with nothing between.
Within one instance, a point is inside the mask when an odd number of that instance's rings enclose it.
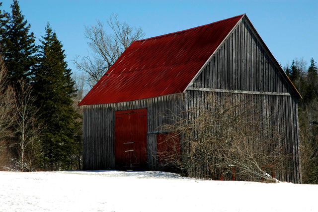
<instances>
[{"instance_id":1,"label":"weathered grey gable-end barn wall, peak to ground, not hidden by bush","mask_svg":"<svg viewBox=\"0 0 318 212\"><path fill-rule=\"evenodd\" d=\"M249 22L243 18L186 92L191 107L205 92L254 95L256 104L269 114L273 123L284 129L286 153L293 155L287 170L276 170L278 179L301 183L297 98L281 67L268 52ZM272 124L272 123L268 123ZM190 174L199 177L206 170L196 167Z\"/></svg>"}]
</instances>

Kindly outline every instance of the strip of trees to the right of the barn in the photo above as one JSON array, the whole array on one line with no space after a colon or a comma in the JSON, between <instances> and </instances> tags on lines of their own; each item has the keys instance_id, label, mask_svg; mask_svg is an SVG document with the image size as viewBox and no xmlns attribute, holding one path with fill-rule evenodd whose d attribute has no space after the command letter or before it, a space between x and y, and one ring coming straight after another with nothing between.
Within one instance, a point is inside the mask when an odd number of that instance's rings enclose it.
<instances>
[{"instance_id":1,"label":"strip of trees to the right of the barn","mask_svg":"<svg viewBox=\"0 0 318 212\"><path fill-rule=\"evenodd\" d=\"M318 184L318 66L313 58L308 68L295 58L284 70L303 97L298 103L303 182Z\"/></svg>"}]
</instances>

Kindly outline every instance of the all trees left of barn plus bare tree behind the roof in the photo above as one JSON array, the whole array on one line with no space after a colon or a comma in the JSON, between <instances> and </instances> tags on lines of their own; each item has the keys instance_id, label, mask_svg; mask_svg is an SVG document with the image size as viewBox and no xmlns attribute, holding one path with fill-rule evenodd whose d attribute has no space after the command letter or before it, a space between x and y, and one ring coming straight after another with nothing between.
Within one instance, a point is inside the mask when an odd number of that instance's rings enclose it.
<instances>
[{"instance_id":1,"label":"all trees left of barn plus bare tree behind the roof","mask_svg":"<svg viewBox=\"0 0 318 212\"><path fill-rule=\"evenodd\" d=\"M85 26L91 54L74 59L74 74L49 22L36 45L19 2L13 0L11 12L2 11L1 4L0 169L9 169L12 162L22 171L81 169L82 119L77 104L85 88L94 86L145 33L120 22L117 14L107 21L111 33L99 20Z\"/></svg>"}]
</instances>

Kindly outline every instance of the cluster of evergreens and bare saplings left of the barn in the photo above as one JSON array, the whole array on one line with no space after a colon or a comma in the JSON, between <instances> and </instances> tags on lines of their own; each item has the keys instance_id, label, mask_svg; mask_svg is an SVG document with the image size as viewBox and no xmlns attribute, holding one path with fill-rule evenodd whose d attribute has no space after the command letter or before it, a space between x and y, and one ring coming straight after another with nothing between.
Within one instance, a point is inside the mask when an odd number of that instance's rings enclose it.
<instances>
[{"instance_id":1,"label":"cluster of evergreens and bare saplings left of the barn","mask_svg":"<svg viewBox=\"0 0 318 212\"><path fill-rule=\"evenodd\" d=\"M11 12L2 11L1 4L0 166L80 169L81 119L63 45L49 22L36 45L18 1Z\"/></svg>"}]
</instances>

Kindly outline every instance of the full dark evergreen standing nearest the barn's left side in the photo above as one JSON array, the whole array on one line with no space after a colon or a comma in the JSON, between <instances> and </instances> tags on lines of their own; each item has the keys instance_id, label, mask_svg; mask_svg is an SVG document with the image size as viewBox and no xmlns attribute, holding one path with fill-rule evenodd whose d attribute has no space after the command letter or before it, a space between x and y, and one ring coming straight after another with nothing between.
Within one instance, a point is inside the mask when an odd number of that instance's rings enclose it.
<instances>
[{"instance_id":1,"label":"full dark evergreen standing nearest the barn's left side","mask_svg":"<svg viewBox=\"0 0 318 212\"><path fill-rule=\"evenodd\" d=\"M42 148L45 169L68 169L75 139L78 113L72 106L75 82L65 61L63 45L49 23L42 37L39 64L33 72L33 88L37 94L37 106L41 119L46 123Z\"/></svg>"}]
</instances>

